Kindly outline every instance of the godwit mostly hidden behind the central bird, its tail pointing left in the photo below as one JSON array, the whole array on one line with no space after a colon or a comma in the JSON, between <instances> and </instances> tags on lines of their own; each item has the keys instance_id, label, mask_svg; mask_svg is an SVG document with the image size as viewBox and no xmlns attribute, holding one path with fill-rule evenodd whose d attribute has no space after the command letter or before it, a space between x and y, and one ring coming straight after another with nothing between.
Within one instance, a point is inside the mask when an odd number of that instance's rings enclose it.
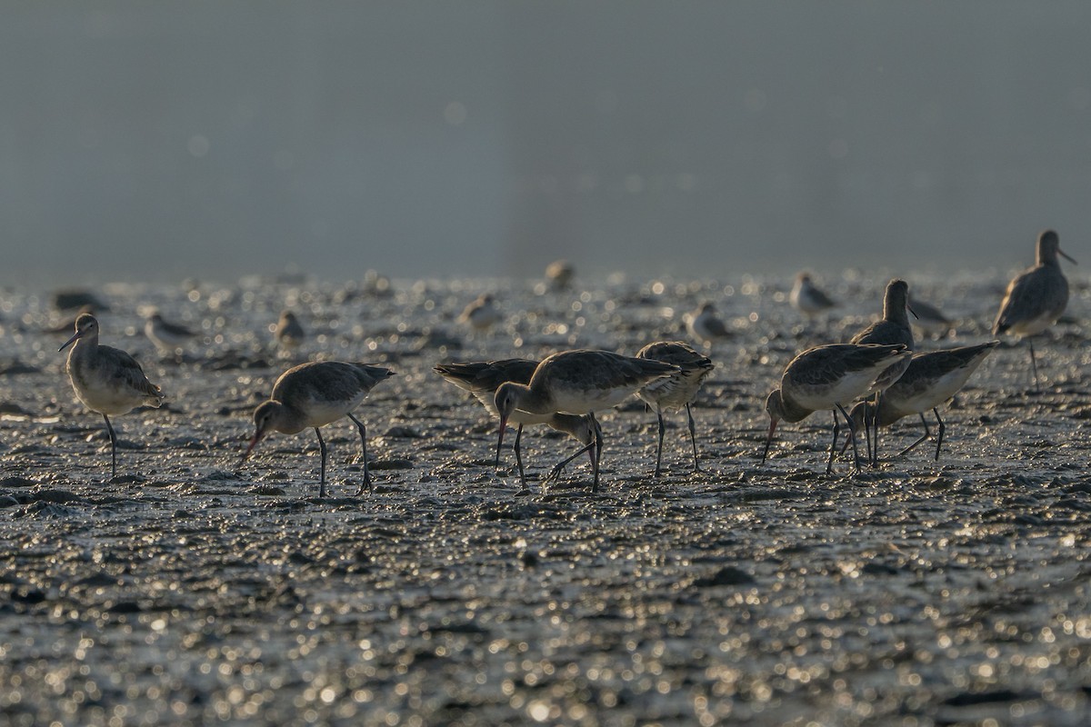
<instances>
[{"instance_id":1,"label":"godwit mostly hidden behind the central bird, its tail pointing left","mask_svg":"<svg viewBox=\"0 0 1091 727\"><path fill-rule=\"evenodd\" d=\"M491 414L500 416L496 411L496 389L501 384L515 381L526 384L538 367L537 361L528 359L504 359L502 361L472 361L461 363L437 364L432 371L451 381L464 391L473 395L481 405ZM585 447L595 438L591 421L587 416L575 416L573 414L531 414L516 409L508 415L507 421L517 424L515 433L515 463L519 468L519 484L527 486L527 480L523 471L523 456L519 443L523 438L523 426L525 424L544 424L558 432L564 432L574 439L579 440ZM588 450L590 451L590 450ZM497 450L497 455L499 455ZM497 461L499 465L500 462ZM591 465L595 465L594 457Z\"/></svg>"}]
</instances>

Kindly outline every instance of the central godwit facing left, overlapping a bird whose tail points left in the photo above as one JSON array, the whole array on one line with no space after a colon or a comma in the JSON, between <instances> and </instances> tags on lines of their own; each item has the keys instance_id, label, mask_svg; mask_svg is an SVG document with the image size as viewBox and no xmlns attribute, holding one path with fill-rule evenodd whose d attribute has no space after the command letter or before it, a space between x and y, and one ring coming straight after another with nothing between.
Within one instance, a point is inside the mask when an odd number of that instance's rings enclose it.
<instances>
[{"instance_id":1,"label":"central godwit facing left, overlapping a bird whose tail points left","mask_svg":"<svg viewBox=\"0 0 1091 727\"><path fill-rule=\"evenodd\" d=\"M576 350L554 353L538 364L528 384L507 381L496 389L495 405L500 412L497 458L504 444L507 421L516 410L531 414L586 414L591 422L595 438L573 457L554 467L547 480L555 477L560 468L594 448L591 492L597 492L602 461L602 428L595 419L595 412L616 407L637 389L678 372L679 367L673 364L623 356L609 351Z\"/></svg>"}]
</instances>

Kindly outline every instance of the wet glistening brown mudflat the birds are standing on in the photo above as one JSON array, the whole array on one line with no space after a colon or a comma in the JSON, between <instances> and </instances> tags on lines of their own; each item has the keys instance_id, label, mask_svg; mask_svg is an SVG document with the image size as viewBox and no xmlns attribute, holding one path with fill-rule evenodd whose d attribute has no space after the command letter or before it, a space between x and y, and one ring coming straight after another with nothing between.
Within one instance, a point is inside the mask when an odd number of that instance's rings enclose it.
<instances>
[{"instance_id":1,"label":"wet glistening brown mudflat the birds are standing on","mask_svg":"<svg viewBox=\"0 0 1091 727\"><path fill-rule=\"evenodd\" d=\"M990 338L1005 276L914 281ZM170 399L101 417L72 396L43 332L60 316L0 291L0 722L26 724L997 724L1091 719L1089 292L1038 343L1004 346L943 411L934 443L825 472L828 413L778 432L758 467L764 395L808 344L847 340L885 279L832 286L813 327L780 281L612 280L385 287L271 283L111 287L101 342L137 355ZM467 335L482 291L505 320ZM603 487L574 450L524 435L529 487L495 423L431 372L440 361L635 351L682 336L717 303L736 335L683 414L666 473L655 415L634 399L601 416ZM200 330L181 355L140 335L143 305ZM307 342L284 359L268 326L290 306ZM240 467L250 413L291 361L388 366L356 428L324 429L333 496L317 492L313 432L274 434ZM931 419L931 417L930 417ZM933 431L935 427L933 426ZM511 439L511 435L509 435ZM992 720L992 722L990 722Z\"/></svg>"}]
</instances>

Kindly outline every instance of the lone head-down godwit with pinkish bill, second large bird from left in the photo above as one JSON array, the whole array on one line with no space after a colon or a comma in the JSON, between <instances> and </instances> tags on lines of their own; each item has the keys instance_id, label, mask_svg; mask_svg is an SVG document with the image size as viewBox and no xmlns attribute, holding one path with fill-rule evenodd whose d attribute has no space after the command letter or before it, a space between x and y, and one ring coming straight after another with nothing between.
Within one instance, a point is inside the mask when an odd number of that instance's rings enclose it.
<instances>
[{"instance_id":1,"label":"lone head-down godwit with pinkish bill, second large bird from left","mask_svg":"<svg viewBox=\"0 0 1091 727\"><path fill-rule=\"evenodd\" d=\"M360 405L371 389L394 372L382 366L340 361L316 361L293 366L283 373L273 385L269 400L254 410L254 438L250 440L242 462L257 443L271 431L281 434L297 434L307 427L314 427L322 450L322 474L319 478L319 497L326 496L326 443L322 439L320 426L348 416L360 432L363 446L363 484L357 490L360 495L371 489L368 472L368 429L363 422L352 416L352 410ZM240 463L241 465L241 463Z\"/></svg>"}]
</instances>

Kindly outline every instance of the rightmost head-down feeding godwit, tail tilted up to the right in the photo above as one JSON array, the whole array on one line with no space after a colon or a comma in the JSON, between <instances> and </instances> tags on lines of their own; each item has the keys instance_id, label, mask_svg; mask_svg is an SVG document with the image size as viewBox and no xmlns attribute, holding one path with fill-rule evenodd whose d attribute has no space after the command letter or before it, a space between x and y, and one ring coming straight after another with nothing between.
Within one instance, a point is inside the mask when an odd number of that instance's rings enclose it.
<instances>
[{"instance_id":1,"label":"rightmost head-down feeding godwit, tail tilted up to the right","mask_svg":"<svg viewBox=\"0 0 1091 727\"><path fill-rule=\"evenodd\" d=\"M889 426L902 416L919 414L921 424L924 425L924 434L920 439L901 450L898 453L900 457L928 438L928 423L924 419L924 412L931 409L939 425L939 436L936 440L936 461L938 462L945 428L944 421L939 417L939 404L954 397L966 386L967 379L999 343L999 341L990 341L978 346L918 353L910 360L901 378L883 392L877 410L875 404L861 401L852 408L849 416L858 426L865 416L873 420L877 426ZM848 441L846 441L846 446L848 446Z\"/></svg>"}]
</instances>

